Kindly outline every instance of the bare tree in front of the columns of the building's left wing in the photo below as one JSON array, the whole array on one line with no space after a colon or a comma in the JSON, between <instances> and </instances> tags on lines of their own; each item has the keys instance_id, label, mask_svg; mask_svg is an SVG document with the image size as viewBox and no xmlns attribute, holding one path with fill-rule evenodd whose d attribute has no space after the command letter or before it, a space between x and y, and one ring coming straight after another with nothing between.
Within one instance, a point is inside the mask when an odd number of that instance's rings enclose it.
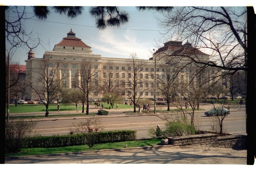
<instances>
[{"instance_id":1,"label":"bare tree in front of the columns of the building's left wing","mask_svg":"<svg viewBox=\"0 0 256 169\"><path fill-rule=\"evenodd\" d=\"M30 77L31 81L27 81L29 84L28 89L32 89L36 95L40 97L40 100L46 100L47 103L44 103L46 106L45 116L48 117L49 111L48 106L52 100L58 98L62 92L62 79L64 76L61 76L61 61L52 60L50 56L44 55L44 58L41 62L38 62L38 65L33 67L36 69L34 73L31 73L28 70L27 76Z\"/></svg>"}]
</instances>

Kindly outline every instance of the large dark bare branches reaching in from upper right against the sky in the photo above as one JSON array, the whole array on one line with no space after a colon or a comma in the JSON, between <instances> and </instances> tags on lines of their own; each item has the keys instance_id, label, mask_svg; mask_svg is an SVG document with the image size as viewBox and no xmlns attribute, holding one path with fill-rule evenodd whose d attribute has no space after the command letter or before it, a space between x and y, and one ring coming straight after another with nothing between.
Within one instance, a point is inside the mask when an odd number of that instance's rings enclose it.
<instances>
[{"instance_id":1,"label":"large dark bare branches reaching in from upper right against the sky","mask_svg":"<svg viewBox=\"0 0 256 169\"><path fill-rule=\"evenodd\" d=\"M246 7L174 7L159 25L169 39L189 39L201 51L211 53L210 61L194 55L184 57L233 73L247 70L246 14Z\"/></svg>"}]
</instances>

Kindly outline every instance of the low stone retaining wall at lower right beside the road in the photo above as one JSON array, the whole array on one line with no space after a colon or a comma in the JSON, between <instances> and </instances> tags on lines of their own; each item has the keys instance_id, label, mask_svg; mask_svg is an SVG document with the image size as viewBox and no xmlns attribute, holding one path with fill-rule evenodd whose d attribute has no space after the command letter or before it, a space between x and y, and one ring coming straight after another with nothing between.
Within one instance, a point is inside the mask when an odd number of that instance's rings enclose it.
<instances>
[{"instance_id":1,"label":"low stone retaining wall at lower right beside the road","mask_svg":"<svg viewBox=\"0 0 256 169\"><path fill-rule=\"evenodd\" d=\"M246 149L246 138L246 135L218 136L217 134L208 133L168 137L168 144L174 146L212 145Z\"/></svg>"}]
</instances>

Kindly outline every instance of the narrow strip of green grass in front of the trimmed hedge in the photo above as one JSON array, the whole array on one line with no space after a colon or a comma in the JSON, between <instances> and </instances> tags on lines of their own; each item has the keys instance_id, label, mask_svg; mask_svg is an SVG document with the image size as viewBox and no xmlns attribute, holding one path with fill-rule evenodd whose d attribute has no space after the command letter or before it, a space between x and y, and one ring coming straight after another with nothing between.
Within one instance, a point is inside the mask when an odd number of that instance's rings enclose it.
<instances>
[{"instance_id":1,"label":"narrow strip of green grass in front of the trimmed hedge","mask_svg":"<svg viewBox=\"0 0 256 169\"><path fill-rule=\"evenodd\" d=\"M137 140L137 141L124 141L117 143L101 143L95 144L92 148L88 145L68 146L68 147L56 147L56 148L28 148L21 149L18 153L6 153L5 157L13 156L25 156L25 155L42 155L42 154L54 154L54 153L70 153L80 151L92 151L100 149L122 149L131 147L145 147L145 146L156 146L160 145L162 139L150 139L150 140Z\"/></svg>"}]
</instances>

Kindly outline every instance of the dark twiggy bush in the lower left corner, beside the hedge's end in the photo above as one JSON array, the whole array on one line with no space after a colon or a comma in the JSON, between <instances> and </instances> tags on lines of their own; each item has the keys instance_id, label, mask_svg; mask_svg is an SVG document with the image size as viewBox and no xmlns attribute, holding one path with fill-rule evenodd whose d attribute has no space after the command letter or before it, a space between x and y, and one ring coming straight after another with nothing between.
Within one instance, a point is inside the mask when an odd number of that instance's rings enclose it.
<instances>
[{"instance_id":1,"label":"dark twiggy bush in the lower left corner, beside the hedge's end","mask_svg":"<svg viewBox=\"0 0 256 169\"><path fill-rule=\"evenodd\" d=\"M30 137L37 122L24 121L6 122L5 126L5 151L6 153L18 152Z\"/></svg>"}]
</instances>

